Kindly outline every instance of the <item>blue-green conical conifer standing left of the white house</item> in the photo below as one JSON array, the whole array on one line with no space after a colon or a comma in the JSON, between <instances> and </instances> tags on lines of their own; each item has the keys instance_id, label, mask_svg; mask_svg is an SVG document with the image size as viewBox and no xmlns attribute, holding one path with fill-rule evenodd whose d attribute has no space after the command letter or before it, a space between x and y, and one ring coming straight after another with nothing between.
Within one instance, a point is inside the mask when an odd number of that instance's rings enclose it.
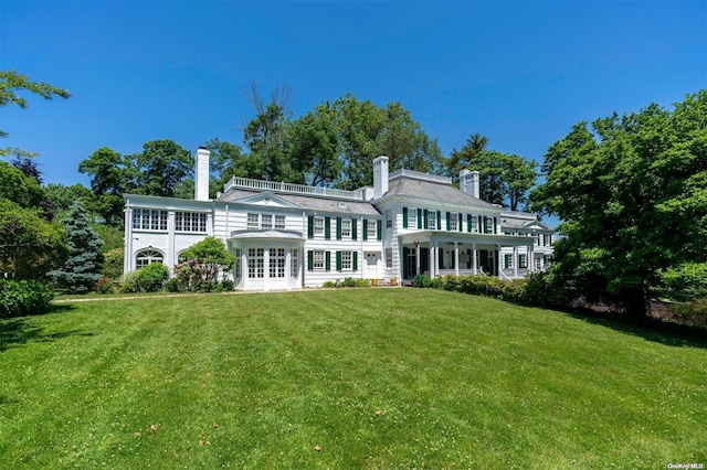
<instances>
[{"instance_id":1,"label":"blue-green conical conifer standing left of the white house","mask_svg":"<svg viewBox=\"0 0 707 470\"><path fill-rule=\"evenodd\" d=\"M86 211L81 202L75 202L68 216L62 221L68 234L68 259L61 269L49 276L56 287L71 293L84 293L93 290L98 279L104 257L101 253L103 241L88 225Z\"/></svg>"}]
</instances>

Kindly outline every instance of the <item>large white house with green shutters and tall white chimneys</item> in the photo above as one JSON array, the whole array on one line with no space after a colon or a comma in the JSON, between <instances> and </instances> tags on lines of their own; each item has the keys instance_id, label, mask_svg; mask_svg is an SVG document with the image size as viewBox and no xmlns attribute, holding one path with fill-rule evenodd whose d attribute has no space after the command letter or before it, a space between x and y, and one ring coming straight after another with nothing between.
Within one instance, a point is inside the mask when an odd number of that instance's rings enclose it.
<instances>
[{"instance_id":1,"label":"large white house with green shutters and tall white chimneys","mask_svg":"<svg viewBox=\"0 0 707 470\"><path fill-rule=\"evenodd\" d=\"M233 178L209 199L209 151L196 156L196 197L125 195L125 271L173 266L209 235L235 256L238 289L298 289L346 277L400 281L545 268L555 232L535 214L482 201L478 172L452 180L373 160L356 191Z\"/></svg>"}]
</instances>

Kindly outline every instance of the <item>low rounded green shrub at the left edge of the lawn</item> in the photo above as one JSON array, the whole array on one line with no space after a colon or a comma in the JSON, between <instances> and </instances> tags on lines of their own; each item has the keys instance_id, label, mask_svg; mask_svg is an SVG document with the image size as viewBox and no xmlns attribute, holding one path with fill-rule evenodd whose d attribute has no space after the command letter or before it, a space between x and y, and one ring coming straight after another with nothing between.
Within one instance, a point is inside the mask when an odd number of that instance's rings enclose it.
<instances>
[{"instance_id":1,"label":"low rounded green shrub at the left edge of the lawn","mask_svg":"<svg viewBox=\"0 0 707 470\"><path fill-rule=\"evenodd\" d=\"M0 279L0 318L44 313L53 298L54 292L45 284Z\"/></svg>"}]
</instances>

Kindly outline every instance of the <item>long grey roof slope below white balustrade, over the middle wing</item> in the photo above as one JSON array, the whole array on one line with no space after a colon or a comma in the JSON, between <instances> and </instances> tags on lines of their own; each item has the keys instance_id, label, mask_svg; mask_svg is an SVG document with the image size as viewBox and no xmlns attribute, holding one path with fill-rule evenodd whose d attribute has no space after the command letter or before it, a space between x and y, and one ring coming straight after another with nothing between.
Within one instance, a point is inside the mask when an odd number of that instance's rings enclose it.
<instances>
[{"instance_id":1,"label":"long grey roof slope below white balustrade, over the middle wing","mask_svg":"<svg viewBox=\"0 0 707 470\"><path fill-rule=\"evenodd\" d=\"M380 216L380 212L378 212L373 204L368 201L337 200L333 197L316 197L299 194L274 194L270 191L267 193L272 194L272 196L276 196L278 200L286 201L289 204L294 204L294 206L304 210L339 214ZM249 201L256 194L264 193L257 190L231 188L225 194L221 194L217 199L217 201L240 203L241 201Z\"/></svg>"}]
</instances>

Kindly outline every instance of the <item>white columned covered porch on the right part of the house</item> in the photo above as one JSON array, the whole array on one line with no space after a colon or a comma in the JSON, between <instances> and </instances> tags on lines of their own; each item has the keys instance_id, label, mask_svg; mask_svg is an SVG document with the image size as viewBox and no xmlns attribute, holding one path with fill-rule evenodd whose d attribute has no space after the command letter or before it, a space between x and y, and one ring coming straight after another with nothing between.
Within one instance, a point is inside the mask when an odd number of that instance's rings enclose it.
<instances>
[{"instance_id":1,"label":"white columned covered porch on the right part of the house","mask_svg":"<svg viewBox=\"0 0 707 470\"><path fill-rule=\"evenodd\" d=\"M413 279L449 275L486 275L502 279L523 277L526 273L504 269L502 250L519 247L531 253L532 239L520 236L423 232L400 237L401 276ZM524 252L525 253L525 252Z\"/></svg>"}]
</instances>

